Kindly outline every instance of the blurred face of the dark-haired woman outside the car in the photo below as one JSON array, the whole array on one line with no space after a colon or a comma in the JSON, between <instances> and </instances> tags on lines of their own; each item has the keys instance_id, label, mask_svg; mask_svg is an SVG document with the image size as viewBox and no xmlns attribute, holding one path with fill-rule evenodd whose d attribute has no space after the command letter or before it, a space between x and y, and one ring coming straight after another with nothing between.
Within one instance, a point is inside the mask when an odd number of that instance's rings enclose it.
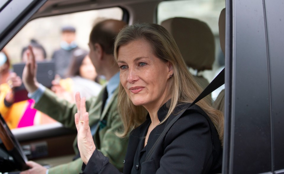
<instances>
[{"instance_id":1,"label":"blurred face of the dark-haired woman outside the car","mask_svg":"<svg viewBox=\"0 0 284 174\"><path fill-rule=\"evenodd\" d=\"M94 65L91 62L89 55L86 55L84 60L82 61L82 65L80 66L80 76L89 80L94 81L97 73Z\"/></svg>"}]
</instances>

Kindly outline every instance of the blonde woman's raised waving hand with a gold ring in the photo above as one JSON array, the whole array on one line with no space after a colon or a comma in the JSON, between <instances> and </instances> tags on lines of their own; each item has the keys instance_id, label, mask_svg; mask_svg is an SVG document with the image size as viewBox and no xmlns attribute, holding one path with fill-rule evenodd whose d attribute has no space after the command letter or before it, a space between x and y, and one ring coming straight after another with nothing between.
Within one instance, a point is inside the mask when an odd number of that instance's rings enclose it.
<instances>
[{"instance_id":1,"label":"blonde woman's raised waving hand with a gold ring","mask_svg":"<svg viewBox=\"0 0 284 174\"><path fill-rule=\"evenodd\" d=\"M86 112L86 99L81 99L80 93L75 95L76 106L78 112L75 114L75 124L78 131L78 148L83 162L87 165L93 152L96 150L91 129L89 126L89 114Z\"/></svg>"}]
</instances>

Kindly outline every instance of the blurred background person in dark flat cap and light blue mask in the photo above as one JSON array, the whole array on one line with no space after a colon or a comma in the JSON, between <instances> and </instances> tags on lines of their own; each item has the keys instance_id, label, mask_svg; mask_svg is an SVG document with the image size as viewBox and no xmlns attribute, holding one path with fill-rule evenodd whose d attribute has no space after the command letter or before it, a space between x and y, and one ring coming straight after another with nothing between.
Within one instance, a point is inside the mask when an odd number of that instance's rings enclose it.
<instances>
[{"instance_id":1,"label":"blurred background person in dark flat cap and light blue mask","mask_svg":"<svg viewBox=\"0 0 284 174\"><path fill-rule=\"evenodd\" d=\"M60 42L60 48L55 50L52 55L52 60L55 62L55 70L60 77L64 77L73 52L79 49L76 38L76 29L73 26L64 26L61 29L62 41Z\"/></svg>"}]
</instances>

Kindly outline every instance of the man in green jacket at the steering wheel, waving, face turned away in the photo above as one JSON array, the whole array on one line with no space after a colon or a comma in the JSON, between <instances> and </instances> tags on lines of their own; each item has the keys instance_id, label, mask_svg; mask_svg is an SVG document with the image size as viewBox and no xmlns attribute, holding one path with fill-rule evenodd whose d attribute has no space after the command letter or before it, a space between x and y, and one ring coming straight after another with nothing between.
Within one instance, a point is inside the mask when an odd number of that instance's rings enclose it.
<instances>
[{"instance_id":1,"label":"man in green jacket at the steering wheel, waving, face turned away","mask_svg":"<svg viewBox=\"0 0 284 174\"><path fill-rule=\"evenodd\" d=\"M105 20L96 24L90 34L90 58L98 75L104 75L108 83L97 98L86 101L89 113L90 127L98 150L120 171L127 149L128 139L116 136L122 129L122 122L117 111L117 94L119 85L119 68L113 57L114 38L126 23L118 20ZM33 52L28 53L28 61L23 72L23 83L29 92L29 97L35 100L34 108L48 114L61 122L65 127L76 129L74 115L77 113L75 104L59 99L52 91L36 81L36 65ZM75 153L79 157L77 138L74 141ZM22 174L55 174L79 173L83 161L81 158L67 164L58 165L48 170L35 162L27 162L31 169Z\"/></svg>"}]
</instances>

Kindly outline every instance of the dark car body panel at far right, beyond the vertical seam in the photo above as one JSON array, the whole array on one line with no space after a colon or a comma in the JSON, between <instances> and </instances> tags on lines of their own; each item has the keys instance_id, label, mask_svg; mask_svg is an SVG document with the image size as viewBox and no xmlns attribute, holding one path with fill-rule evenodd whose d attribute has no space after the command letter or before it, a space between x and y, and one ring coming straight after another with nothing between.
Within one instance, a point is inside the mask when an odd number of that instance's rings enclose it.
<instances>
[{"instance_id":1,"label":"dark car body panel at far right, beyond the vertical seam","mask_svg":"<svg viewBox=\"0 0 284 174\"><path fill-rule=\"evenodd\" d=\"M272 161L275 170L284 168L284 23L283 1L265 1L267 18L267 41L269 43L269 68L271 88ZM280 160L282 159L282 160ZM283 171L284 173L284 171Z\"/></svg>"}]
</instances>

